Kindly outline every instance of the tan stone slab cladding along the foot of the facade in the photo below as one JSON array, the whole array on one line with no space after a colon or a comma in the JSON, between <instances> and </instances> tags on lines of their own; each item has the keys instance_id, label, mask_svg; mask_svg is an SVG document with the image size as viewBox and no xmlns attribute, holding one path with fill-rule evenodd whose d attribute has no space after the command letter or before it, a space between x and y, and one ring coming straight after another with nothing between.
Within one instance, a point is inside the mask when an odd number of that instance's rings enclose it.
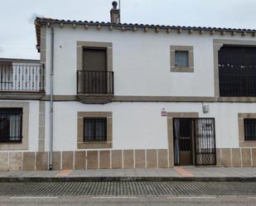
<instances>
[{"instance_id":1,"label":"tan stone slab cladding along the foot of the facade","mask_svg":"<svg viewBox=\"0 0 256 206\"><path fill-rule=\"evenodd\" d=\"M256 166L256 148L218 148L217 166ZM170 168L167 149L54 151L53 170ZM0 171L48 170L49 152L0 152Z\"/></svg>"}]
</instances>

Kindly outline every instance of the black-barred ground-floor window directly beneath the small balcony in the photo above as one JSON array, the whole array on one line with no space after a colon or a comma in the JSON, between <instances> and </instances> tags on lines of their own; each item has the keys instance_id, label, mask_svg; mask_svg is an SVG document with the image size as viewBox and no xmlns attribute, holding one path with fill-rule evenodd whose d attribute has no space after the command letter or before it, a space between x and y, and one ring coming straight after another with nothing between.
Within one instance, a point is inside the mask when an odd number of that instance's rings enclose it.
<instances>
[{"instance_id":1,"label":"black-barred ground-floor window directly beneath the small balcony","mask_svg":"<svg viewBox=\"0 0 256 206\"><path fill-rule=\"evenodd\" d=\"M84 141L107 141L107 118L84 118Z\"/></svg>"}]
</instances>

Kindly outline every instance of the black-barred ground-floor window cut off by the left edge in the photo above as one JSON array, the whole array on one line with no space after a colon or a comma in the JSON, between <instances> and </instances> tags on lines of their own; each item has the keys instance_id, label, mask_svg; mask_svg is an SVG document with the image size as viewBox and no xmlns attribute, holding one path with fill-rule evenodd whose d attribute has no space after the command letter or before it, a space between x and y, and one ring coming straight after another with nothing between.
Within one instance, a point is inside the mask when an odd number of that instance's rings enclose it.
<instances>
[{"instance_id":1,"label":"black-barred ground-floor window cut off by the left edge","mask_svg":"<svg viewBox=\"0 0 256 206\"><path fill-rule=\"evenodd\" d=\"M0 142L22 142L22 108L0 108Z\"/></svg>"}]
</instances>

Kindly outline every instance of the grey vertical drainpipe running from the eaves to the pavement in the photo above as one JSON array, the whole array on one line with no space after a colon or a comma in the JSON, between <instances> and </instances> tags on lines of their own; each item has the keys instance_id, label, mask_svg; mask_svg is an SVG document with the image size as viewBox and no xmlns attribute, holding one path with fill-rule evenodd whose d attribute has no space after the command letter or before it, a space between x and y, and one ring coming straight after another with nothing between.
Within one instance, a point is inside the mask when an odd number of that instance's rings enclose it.
<instances>
[{"instance_id":1,"label":"grey vertical drainpipe running from the eaves to the pavement","mask_svg":"<svg viewBox=\"0 0 256 206\"><path fill-rule=\"evenodd\" d=\"M54 28L51 26L51 72L50 72L50 158L49 170L52 170L53 148L53 66L54 66Z\"/></svg>"}]
</instances>

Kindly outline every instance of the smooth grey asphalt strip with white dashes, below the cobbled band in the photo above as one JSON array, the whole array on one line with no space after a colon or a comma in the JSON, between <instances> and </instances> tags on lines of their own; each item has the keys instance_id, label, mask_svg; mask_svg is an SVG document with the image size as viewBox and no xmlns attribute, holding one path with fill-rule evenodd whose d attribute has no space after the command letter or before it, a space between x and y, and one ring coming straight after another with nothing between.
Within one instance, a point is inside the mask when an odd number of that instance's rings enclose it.
<instances>
[{"instance_id":1,"label":"smooth grey asphalt strip with white dashes, below the cobbled band","mask_svg":"<svg viewBox=\"0 0 256 206\"><path fill-rule=\"evenodd\" d=\"M1 197L1 206L255 206L255 197L237 196L207 196L207 197L86 197L86 196L61 196L61 197Z\"/></svg>"}]
</instances>

